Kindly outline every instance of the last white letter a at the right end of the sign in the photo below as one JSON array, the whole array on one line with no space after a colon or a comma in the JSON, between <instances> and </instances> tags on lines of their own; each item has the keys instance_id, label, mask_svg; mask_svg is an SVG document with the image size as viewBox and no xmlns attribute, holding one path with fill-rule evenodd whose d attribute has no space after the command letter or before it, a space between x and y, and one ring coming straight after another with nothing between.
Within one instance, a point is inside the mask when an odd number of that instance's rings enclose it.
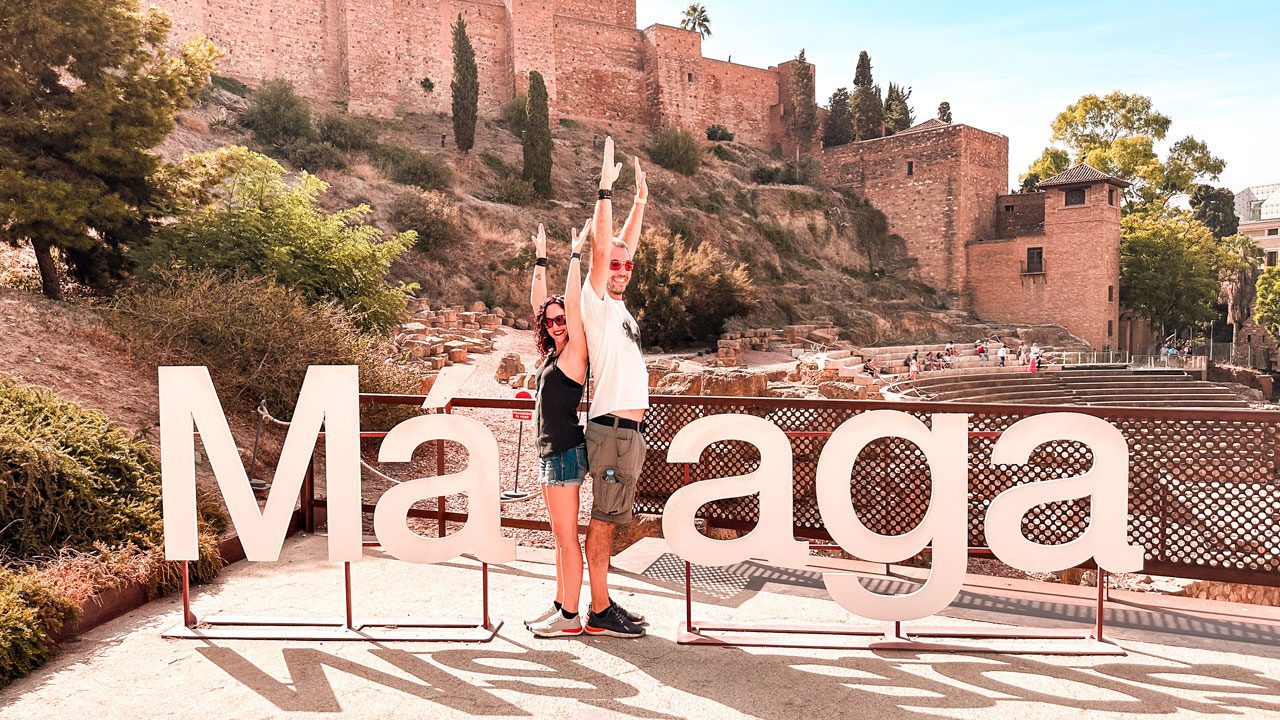
<instances>
[{"instance_id":1,"label":"last white letter a at the right end of the sign","mask_svg":"<svg viewBox=\"0 0 1280 720\"><path fill-rule=\"evenodd\" d=\"M1091 557L1108 573L1142 570L1142 546L1129 544L1129 443L1111 423L1080 413L1046 413L1018 420L996 441L991 461L1025 465L1032 451L1074 441L1093 452L1082 475L1014 486L987 509L987 546L1002 562L1028 573L1074 568ZM1089 527L1071 542L1041 544L1023 536L1023 516L1037 505L1089 498Z\"/></svg>"}]
</instances>

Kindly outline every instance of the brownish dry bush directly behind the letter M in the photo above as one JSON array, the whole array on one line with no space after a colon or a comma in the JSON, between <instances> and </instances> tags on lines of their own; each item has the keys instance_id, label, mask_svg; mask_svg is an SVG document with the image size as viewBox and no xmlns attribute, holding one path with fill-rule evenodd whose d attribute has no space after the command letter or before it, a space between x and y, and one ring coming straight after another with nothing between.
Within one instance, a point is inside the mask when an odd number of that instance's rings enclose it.
<instances>
[{"instance_id":1,"label":"brownish dry bush directly behind the letter M","mask_svg":"<svg viewBox=\"0 0 1280 720\"><path fill-rule=\"evenodd\" d=\"M292 415L308 365L358 365L361 392L417 391L412 373L385 363L389 340L266 278L160 270L115 300L110 322L150 363L205 365L224 405L265 401L278 418Z\"/></svg>"}]
</instances>

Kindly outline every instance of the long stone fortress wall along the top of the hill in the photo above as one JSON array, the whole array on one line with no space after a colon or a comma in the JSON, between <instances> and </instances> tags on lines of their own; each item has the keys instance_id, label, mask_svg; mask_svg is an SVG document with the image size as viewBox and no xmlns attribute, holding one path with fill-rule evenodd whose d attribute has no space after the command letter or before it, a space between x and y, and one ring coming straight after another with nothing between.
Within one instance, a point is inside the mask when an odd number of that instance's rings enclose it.
<instances>
[{"instance_id":1,"label":"long stone fortress wall along the top of the hill","mask_svg":"<svg viewBox=\"0 0 1280 720\"><path fill-rule=\"evenodd\" d=\"M547 82L554 118L723 124L737 140L782 147L790 63L753 68L703 58L701 37L636 28L635 0L155 0L173 37L205 35L227 50L219 73L282 77L312 100L356 114L449 111L452 26L461 14L480 69L480 110L497 114ZM422 78L435 83L431 92Z\"/></svg>"}]
</instances>

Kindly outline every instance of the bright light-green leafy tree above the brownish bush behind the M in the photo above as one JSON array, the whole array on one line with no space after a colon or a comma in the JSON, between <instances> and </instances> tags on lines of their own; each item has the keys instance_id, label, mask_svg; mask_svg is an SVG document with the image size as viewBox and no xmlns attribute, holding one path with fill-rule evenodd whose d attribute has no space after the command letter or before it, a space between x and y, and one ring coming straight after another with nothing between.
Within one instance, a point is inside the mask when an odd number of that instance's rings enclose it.
<instances>
[{"instance_id":1,"label":"bright light-green leafy tree above the brownish bush behind the M","mask_svg":"<svg viewBox=\"0 0 1280 720\"><path fill-rule=\"evenodd\" d=\"M172 174L184 205L136 250L143 278L179 263L271 278L308 302L337 301L365 328L403 315L412 287L393 287L387 272L416 233L384 238L367 205L326 213L316 199L328 183L287 179L275 160L243 147L187 156Z\"/></svg>"}]
</instances>

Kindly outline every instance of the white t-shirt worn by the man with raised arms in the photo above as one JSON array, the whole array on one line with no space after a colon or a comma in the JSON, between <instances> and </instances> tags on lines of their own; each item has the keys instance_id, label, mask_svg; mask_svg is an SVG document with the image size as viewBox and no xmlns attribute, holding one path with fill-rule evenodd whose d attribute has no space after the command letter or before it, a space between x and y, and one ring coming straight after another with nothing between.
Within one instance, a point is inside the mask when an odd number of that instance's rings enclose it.
<instances>
[{"instance_id":1,"label":"white t-shirt worn by the man with raised arms","mask_svg":"<svg viewBox=\"0 0 1280 720\"><path fill-rule=\"evenodd\" d=\"M617 410L649 409L649 370L640 352L640 325L626 304L605 292L595 293L591 281L582 283L582 325L591 364L595 393L588 418Z\"/></svg>"}]
</instances>

